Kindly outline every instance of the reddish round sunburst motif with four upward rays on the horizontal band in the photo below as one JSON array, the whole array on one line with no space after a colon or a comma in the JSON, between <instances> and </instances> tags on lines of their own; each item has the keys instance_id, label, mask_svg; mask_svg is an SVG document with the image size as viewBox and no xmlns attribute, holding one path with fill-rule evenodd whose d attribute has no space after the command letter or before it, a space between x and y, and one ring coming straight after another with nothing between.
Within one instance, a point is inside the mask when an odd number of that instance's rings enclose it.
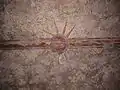
<instances>
[{"instance_id":1,"label":"reddish round sunburst motif with four upward rays on the horizontal band","mask_svg":"<svg viewBox=\"0 0 120 90\"><path fill-rule=\"evenodd\" d=\"M52 35L51 43L50 43L50 47L52 51L57 52L58 54L62 54L68 47L68 38L72 33L72 31L74 30L75 25L71 28L71 30L67 34L66 34L67 21L65 22L62 33L59 33L59 29L56 25L55 20L54 20L54 25L56 28L56 34L52 34L45 30L43 30L43 32Z\"/></svg>"}]
</instances>

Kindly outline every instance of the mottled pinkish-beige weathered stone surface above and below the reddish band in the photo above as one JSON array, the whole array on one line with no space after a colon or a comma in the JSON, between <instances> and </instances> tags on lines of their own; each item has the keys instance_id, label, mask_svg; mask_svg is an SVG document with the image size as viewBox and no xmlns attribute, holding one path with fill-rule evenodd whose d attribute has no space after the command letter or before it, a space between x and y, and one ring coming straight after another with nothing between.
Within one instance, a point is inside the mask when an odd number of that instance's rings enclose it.
<instances>
[{"instance_id":1,"label":"mottled pinkish-beige weathered stone surface above and below the reddish band","mask_svg":"<svg viewBox=\"0 0 120 90\"><path fill-rule=\"evenodd\" d=\"M120 36L118 0L6 0L0 39L34 40L76 24L70 37ZM3 19L4 17L4 19ZM1 90L119 90L120 50L0 51Z\"/></svg>"}]
</instances>

